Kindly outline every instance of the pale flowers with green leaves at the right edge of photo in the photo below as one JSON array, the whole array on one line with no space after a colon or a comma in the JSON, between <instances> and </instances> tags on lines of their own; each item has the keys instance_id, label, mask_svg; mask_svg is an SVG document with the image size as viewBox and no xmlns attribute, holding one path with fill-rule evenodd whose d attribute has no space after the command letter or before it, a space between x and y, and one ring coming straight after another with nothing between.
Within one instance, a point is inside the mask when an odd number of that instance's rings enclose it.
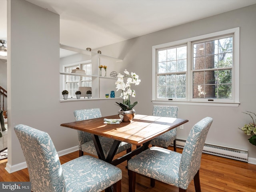
<instances>
[{"instance_id":1,"label":"pale flowers with green leaves at the right edge of photo","mask_svg":"<svg viewBox=\"0 0 256 192\"><path fill-rule=\"evenodd\" d=\"M250 115L250 117L252 118L252 122L249 124L245 124L242 128L239 129L244 131L244 134L251 135L251 138L249 138L248 140L251 144L256 146L256 119L254 121L254 118L252 117L252 115L256 116L256 114L250 111L246 111L243 113Z\"/></svg>"}]
</instances>

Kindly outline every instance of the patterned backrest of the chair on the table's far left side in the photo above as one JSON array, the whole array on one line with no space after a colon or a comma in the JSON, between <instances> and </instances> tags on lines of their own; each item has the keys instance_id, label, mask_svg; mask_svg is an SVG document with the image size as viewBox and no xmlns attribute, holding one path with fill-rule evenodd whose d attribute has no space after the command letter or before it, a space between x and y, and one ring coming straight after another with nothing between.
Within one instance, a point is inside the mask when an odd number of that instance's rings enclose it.
<instances>
[{"instance_id":1,"label":"patterned backrest of the chair on the table's far left side","mask_svg":"<svg viewBox=\"0 0 256 192\"><path fill-rule=\"evenodd\" d=\"M94 119L101 117L101 112L99 108L93 108L93 109L81 109L81 110L75 110L74 116L76 121L82 121L87 119ZM87 132L83 131L77 131L78 134L78 143L79 143L79 150L82 150L81 145L85 142L88 142L92 140L92 135Z\"/></svg>"}]
</instances>

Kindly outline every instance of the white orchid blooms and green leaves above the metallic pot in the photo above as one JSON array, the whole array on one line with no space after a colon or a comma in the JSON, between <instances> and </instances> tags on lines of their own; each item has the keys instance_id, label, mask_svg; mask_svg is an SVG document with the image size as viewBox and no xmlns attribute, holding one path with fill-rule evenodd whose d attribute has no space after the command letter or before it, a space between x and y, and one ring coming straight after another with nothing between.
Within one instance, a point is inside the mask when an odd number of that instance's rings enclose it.
<instances>
[{"instance_id":1,"label":"white orchid blooms and green leaves above the metallic pot","mask_svg":"<svg viewBox=\"0 0 256 192\"><path fill-rule=\"evenodd\" d=\"M131 72L131 74L127 71L124 70L124 74L122 75L120 73L118 73L117 75L117 80L116 80L116 88L118 90L122 90L121 93L121 97L123 98L123 102L122 103L118 103L118 106L120 106L122 108L123 111L128 111L131 110L134 106L136 106L136 104L138 104L138 102L134 102L133 104L131 104L130 102L130 96L135 97L136 93L135 90L131 89L131 84L135 84L138 85L140 84L140 79L139 76L136 73ZM124 83L124 78L127 78L126 83Z\"/></svg>"}]
</instances>

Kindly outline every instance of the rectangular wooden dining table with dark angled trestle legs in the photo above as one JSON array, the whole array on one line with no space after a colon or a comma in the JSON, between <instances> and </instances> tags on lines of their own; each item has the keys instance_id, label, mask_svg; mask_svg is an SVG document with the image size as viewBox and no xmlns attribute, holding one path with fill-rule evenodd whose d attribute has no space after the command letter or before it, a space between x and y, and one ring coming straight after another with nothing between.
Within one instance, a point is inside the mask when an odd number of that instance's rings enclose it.
<instances>
[{"instance_id":1,"label":"rectangular wooden dining table with dark angled trestle legs","mask_svg":"<svg viewBox=\"0 0 256 192\"><path fill-rule=\"evenodd\" d=\"M188 122L188 120L180 118L136 114L131 122L104 124L104 118L119 119L119 116L112 115L68 122L60 126L91 133L98 158L115 166L148 149L153 138ZM112 138L114 140L106 157L104 156L99 136ZM114 159L120 142L127 142L137 147L135 150Z\"/></svg>"}]
</instances>

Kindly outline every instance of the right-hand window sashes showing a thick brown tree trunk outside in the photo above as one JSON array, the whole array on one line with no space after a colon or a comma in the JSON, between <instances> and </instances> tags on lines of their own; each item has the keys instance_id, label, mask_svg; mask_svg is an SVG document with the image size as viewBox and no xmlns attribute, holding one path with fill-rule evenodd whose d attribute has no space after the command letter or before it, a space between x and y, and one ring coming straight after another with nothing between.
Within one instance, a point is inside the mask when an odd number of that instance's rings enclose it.
<instances>
[{"instance_id":1,"label":"right-hand window sashes showing a thick brown tree trunk outside","mask_svg":"<svg viewBox=\"0 0 256 192\"><path fill-rule=\"evenodd\" d=\"M232 99L233 35L193 46L193 98Z\"/></svg>"}]
</instances>

